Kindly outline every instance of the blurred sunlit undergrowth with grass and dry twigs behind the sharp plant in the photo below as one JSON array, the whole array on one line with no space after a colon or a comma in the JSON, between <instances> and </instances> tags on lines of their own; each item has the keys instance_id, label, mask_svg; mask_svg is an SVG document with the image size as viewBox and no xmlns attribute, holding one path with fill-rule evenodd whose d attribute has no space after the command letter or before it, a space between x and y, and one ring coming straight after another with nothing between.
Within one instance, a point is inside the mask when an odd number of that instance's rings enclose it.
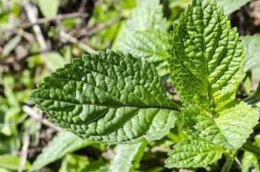
<instances>
[{"instance_id":1,"label":"blurred sunlit undergrowth with grass and dry twigs behind the sharp plant","mask_svg":"<svg viewBox=\"0 0 260 172\"><path fill-rule=\"evenodd\" d=\"M0 172L184 171L164 168L172 145L186 136L179 127L160 141L134 147L84 142L53 125L47 114L27 99L36 84L72 58L105 49L131 51L122 42L129 39L129 33L145 30L149 25L146 20L139 23L142 27L131 23L138 17L145 18L159 10L166 22L162 32L170 33L190 0L161 0L161 5L147 2L0 0ZM260 1L218 3L224 5L224 12L240 36L260 33ZM260 54L258 44L259 40L252 46ZM165 65L159 73L164 76L168 95L174 97L173 86L166 82ZM248 67L242 96L257 88L260 64L254 65ZM118 160L124 156L125 162ZM118 162L121 169L116 166ZM218 171L218 164L197 171Z\"/></svg>"}]
</instances>

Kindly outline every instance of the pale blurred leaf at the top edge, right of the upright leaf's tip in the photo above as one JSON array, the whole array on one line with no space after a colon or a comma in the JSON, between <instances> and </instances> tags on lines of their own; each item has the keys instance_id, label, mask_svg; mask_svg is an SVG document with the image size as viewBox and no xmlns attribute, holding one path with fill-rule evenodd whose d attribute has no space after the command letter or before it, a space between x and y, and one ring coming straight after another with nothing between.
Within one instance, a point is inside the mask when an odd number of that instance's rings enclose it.
<instances>
[{"instance_id":1,"label":"pale blurred leaf at the top edge, right of the upright leaf's tip","mask_svg":"<svg viewBox=\"0 0 260 172\"><path fill-rule=\"evenodd\" d=\"M231 14L252 0L218 0L218 5L223 6L225 14Z\"/></svg>"}]
</instances>

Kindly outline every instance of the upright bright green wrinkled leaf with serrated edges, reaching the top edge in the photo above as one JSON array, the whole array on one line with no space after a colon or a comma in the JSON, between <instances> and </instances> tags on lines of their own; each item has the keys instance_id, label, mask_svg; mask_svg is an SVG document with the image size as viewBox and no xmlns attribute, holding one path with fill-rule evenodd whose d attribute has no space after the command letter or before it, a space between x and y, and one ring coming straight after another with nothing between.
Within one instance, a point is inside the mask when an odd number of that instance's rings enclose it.
<instances>
[{"instance_id":1,"label":"upright bright green wrinkled leaf with serrated edges, reaching the top edge","mask_svg":"<svg viewBox=\"0 0 260 172\"><path fill-rule=\"evenodd\" d=\"M245 50L215 1L194 0L174 25L170 43L171 78L186 106L221 108L235 99Z\"/></svg>"}]
</instances>

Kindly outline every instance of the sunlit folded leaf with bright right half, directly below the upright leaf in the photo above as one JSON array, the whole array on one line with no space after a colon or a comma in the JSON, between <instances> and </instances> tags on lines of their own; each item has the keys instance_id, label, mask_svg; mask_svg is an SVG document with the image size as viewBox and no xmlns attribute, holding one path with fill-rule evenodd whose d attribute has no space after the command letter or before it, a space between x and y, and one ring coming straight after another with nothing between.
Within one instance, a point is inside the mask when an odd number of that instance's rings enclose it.
<instances>
[{"instance_id":1,"label":"sunlit folded leaf with bright right half, directly below the upright leaf","mask_svg":"<svg viewBox=\"0 0 260 172\"><path fill-rule=\"evenodd\" d=\"M183 129L193 136L221 145L226 149L239 149L257 125L259 112L241 102L218 114L201 108L186 108L181 112Z\"/></svg>"}]
</instances>

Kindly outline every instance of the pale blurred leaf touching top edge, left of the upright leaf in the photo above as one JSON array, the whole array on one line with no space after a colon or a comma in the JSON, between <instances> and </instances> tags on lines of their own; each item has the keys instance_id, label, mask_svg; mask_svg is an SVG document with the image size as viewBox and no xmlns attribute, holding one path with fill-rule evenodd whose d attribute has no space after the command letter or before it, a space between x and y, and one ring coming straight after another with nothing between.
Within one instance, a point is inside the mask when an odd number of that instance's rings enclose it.
<instances>
[{"instance_id":1,"label":"pale blurred leaf touching top edge, left of the upright leaf","mask_svg":"<svg viewBox=\"0 0 260 172\"><path fill-rule=\"evenodd\" d=\"M159 0L137 1L137 8L133 12L131 19L127 20L125 33L135 31L157 30L167 31L166 19Z\"/></svg>"}]
</instances>

